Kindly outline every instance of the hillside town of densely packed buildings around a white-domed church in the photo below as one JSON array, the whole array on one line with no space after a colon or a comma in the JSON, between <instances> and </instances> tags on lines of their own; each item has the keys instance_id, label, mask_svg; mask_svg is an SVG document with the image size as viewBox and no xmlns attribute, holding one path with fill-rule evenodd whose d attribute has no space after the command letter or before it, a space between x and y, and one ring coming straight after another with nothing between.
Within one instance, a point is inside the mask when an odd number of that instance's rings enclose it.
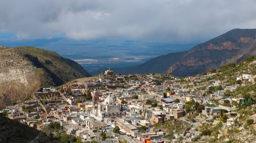
<instances>
[{"instance_id":1,"label":"hillside town of densely packed buildings around a white-domed church","mask_svg":"<svg viewBox=\"0 0 256 143\"><path fill-rule=\"evenodd\" d=\"M251 107L255 63L225 65L186 78L107 70L60 87L45 87L0 112L51 137L65 134L80 142L214 142L225 140L224 136L229 142L242 121L245 129L254 121L246 115L256 111ZM248 69L239 71L241 65ZM247 87L253 91L240 92Z\"/></svg>"}]
</instances>

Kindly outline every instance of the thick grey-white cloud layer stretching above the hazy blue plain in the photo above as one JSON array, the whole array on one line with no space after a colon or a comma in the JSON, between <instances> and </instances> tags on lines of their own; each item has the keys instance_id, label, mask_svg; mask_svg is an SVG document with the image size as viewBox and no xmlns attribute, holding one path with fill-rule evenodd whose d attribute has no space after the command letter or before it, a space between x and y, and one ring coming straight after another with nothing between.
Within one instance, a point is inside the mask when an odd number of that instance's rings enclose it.
<instances>
[{"instance_id":1,"label":"thick grey-white cloud layer stretching above the hazy blue plain","mask_svg":"<svg viewBox=\"0 0 256 143\"><path fill-rule=\"evenodd\" d=\"M20 39L205 40L256 28L255 0L2 1L0 32Z\"/></svg>"}]
</instances>

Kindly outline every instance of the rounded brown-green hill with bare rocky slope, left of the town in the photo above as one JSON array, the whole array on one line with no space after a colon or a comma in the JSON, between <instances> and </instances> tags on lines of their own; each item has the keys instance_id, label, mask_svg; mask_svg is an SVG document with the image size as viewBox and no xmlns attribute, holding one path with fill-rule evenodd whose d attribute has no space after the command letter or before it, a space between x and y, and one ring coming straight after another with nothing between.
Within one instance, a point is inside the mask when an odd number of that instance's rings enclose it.
<instances>
[{"instance_id":1,"label":"rounded brown-green hill with bare rocky slope, left of the town","mask_svg":"<svg viewBox=\"0 0 256 143\"><path fill-rule=\"evenodd\" d=\"M90 77L73 60L36 47L0 46L0 107L32 95L42 87Z\"/></svg>"}]
</instances>

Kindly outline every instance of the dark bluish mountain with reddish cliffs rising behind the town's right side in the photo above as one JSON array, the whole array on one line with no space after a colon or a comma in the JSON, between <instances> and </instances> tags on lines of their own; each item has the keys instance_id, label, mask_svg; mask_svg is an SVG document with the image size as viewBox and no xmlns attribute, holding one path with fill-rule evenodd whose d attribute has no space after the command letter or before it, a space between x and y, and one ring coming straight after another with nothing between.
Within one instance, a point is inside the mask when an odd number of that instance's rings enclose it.
<instances>
[{"instance_id":1,"label":"dark bluish mountain with reddish cliffs rising behind the town's right side","mask_svg":"<svg viewBox=\"0 0 256 143\"><path fill-rule=\"evenodd\" d=\"M111 68L115 73L172 73L186 77L219 68L221 65L239 62L256 55L256 29L233 29L216 38L196 45L189 51L170 53L150 59L141 65ZM91 71L92 75L107 70Z\"/></svg>"}]
</instances>

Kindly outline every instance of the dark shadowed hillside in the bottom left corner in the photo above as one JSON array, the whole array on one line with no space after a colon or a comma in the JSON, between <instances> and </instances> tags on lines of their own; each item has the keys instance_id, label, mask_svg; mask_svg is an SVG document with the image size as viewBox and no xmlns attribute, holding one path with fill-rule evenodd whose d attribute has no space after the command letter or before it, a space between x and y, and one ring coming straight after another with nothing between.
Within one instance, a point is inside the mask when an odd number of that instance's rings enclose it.
<instances>
[{"instance_id":1,"label":"dark shadowed hillside in the bottom left corner","mask_svg":"<svg viewBox=\"0 0 256 143\"><path fill-rule=\"evenodd\" d=\"M53 142L41 131L0 115L0 142ZM54 141L57 142L57 141Z\"/></svg>"}]
</instances>

